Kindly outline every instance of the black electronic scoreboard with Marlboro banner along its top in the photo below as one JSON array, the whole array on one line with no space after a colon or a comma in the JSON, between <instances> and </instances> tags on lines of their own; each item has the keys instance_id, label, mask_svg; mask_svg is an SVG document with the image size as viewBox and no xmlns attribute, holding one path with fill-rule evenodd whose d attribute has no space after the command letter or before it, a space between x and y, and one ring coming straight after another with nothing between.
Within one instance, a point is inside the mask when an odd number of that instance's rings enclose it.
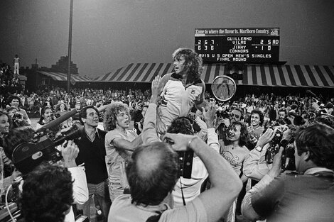
<instances>
[{"instance_id":1,"label":"black electronic scoreboard with Marlboro banner along its top","mask_svg":"<svg viewBox=\"0 0 334 222\"><path fill-rule=\"evenodd\" d=\"M279 62L279 28L195 28L203 62Z\"/></svg>"}]
</instances>

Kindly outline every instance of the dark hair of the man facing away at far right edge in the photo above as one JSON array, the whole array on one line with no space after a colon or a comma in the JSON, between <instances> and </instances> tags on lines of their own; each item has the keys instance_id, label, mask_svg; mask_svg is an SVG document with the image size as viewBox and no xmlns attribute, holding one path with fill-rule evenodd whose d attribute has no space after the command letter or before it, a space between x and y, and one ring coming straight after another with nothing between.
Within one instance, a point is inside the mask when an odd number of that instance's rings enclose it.
<instances>
[{"instance_id":1,"label":"dark hair of the man facing away at far right edge","mask_svg":"<svg viewBox=\"0 0 334 222\"><path fill-rule=\"evenodd\" d=\"M334 129L323 123L312 123L296 135L298 155L310 152L310 160L318 167L334 170Z\"/></svg>"}]
</instances>

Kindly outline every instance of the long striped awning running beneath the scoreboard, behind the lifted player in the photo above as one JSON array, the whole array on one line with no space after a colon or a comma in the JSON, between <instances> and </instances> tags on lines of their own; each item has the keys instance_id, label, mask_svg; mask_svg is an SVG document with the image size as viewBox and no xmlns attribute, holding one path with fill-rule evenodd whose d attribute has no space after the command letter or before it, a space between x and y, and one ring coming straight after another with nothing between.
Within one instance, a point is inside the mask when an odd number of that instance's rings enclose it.
<instances>
[{"instance_id":1,"label":"long striped awning running beneath the scoreboard, behind the lifted player","mask_svg":"<svg viewBox=\"0 0 334 222\"><path fill-rule=\"evenodd\" d=\"M151 82L157 74L173 72L171 63L131 63L97 77L97 82ZM211 84L217 75L230 71L222 64L205 64L202 79ZM245 65L238 85L268 87L334 88L334 67L320 65Z\"/></svg>"}]
</instances>

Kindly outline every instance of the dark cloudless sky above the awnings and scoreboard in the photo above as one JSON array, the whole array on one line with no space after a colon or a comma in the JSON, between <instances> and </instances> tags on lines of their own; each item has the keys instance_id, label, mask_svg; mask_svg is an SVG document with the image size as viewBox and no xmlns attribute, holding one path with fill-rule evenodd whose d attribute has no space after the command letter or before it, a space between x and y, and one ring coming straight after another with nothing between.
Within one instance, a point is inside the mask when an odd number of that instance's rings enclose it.
<instances>
[{"instance_id":1,"label":"dark cloudless sky above the awnings and scoreboard","mask_svg":"<svg viewBox=\"0 0 334 222\"><path fill-rule=\"evenodd\" d=\"M72 61L98 77L131 62L171 62L195 28L281 29L280 60L333 65L332 0L74 0ZM70 0L1 0L0 59L50 67L68 54Z\"/></svg>"}]
</instances>

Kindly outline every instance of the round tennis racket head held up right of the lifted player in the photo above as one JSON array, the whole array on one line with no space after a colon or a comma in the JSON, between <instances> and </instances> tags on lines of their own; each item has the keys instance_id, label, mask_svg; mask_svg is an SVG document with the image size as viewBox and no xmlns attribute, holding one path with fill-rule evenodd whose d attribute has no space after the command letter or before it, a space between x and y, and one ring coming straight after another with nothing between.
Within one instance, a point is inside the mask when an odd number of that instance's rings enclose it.
<instances>
[{"instance_id":1,"label":"round tennis racket head held up right of the lifted player","mask_svg":"<svg viewBox=\"0 0 334 222\"><path fill-rule=\"evenodd\" d=\"M217 100L227 101L235 95L237 84L235 84L235 80L231 77L222 75L213 79L211 90Z\"/></svg>"}]
</instances>

